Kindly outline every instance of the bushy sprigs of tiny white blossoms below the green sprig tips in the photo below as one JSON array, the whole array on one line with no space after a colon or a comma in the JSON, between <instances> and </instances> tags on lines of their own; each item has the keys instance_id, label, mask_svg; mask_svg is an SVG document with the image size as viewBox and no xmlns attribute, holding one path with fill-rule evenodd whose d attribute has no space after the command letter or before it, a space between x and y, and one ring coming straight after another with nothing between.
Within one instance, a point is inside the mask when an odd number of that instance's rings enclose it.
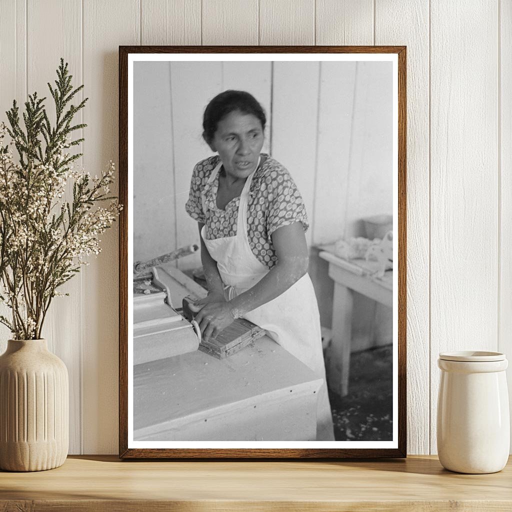
<instances>
[{"instance_id":1,"label":"bushy sprigs of tiny white blossoms below the green sprig tips","mask_svg":"<svg viewBox=\"0 0 512 512\"><path fill-rule=\"evenodd\" d=\"M15 305L17 328L10 323L14 336L32 337L40 332L42 307L53 297L67 295L57 288L75 274L72 269L89 265L87 258L101 252L99 236L111 227L122 207L116 199L108 206L97 204L110 193L112 161L94 178L83 168L60 169L53 163L36 162L29 179L27 166L14 161L6 135L5 124L0 124L0 241L5 242L0 302L11 309ZM69 145L69 141L58 145L57 162L69 158L64 152ZM79 187L75 200L67 191L73 184ZM87 198L93 205L86 204ZM35 295L41 292L44 304L29 314L36 304Z\"/></svg>"}]
</instances>

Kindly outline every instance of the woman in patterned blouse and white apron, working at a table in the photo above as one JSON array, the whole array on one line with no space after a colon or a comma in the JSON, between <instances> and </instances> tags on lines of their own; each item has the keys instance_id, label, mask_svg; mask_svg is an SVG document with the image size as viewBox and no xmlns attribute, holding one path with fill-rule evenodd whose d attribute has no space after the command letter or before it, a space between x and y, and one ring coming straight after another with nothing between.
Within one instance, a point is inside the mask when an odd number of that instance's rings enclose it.
<instances>
[{"instance_id":1,"label":"woman in patterned blouse and white apron, working at a table","mask_svg":"<svg viewBox=\"0 0 512 512\"><path fill-rule=\"evenodd\" d=\"M216 155L194 167L186 203L208 287L193 309L206 339L243 317L323 378L316 439L333 441L306 209L286 168L261 153L265 123L244 91L225 91L204 111L203 138Z\"/></svg>"}]
</instances>

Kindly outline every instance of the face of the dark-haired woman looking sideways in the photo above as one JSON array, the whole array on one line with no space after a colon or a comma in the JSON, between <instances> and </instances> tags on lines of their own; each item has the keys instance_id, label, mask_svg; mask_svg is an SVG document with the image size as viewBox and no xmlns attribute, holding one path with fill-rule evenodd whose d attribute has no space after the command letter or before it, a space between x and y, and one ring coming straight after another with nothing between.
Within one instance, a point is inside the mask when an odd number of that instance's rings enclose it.
<instances>
[{"instance_id":1,"label":"face of the dark-haired woman looking sideways","mask_svg":"<svg viewBox=\"0 0 512 512\"><path fill-rule=\"evenodd\" d=\"M261 121L237 110L219 121L209 146L219 153L227 175L247 178L258 164L263 139Z\"/></svg>"}]
</instances>

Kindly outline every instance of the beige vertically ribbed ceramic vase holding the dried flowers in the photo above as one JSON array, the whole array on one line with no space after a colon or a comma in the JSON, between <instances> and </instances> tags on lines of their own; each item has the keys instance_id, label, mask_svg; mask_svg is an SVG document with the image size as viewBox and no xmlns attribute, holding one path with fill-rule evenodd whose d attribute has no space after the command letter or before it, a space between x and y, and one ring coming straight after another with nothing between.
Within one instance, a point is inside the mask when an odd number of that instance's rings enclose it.
<instances>
[{"instance_id":1,"label":"beige vertically ribbed ceramic vase holding the dried flowers","mask_svg":"<svg viewBox=\"0 0 512 512\"><path fill-rule=\"evenodd\" d=\"M0 469L50 470L68 448L66 365L46 339L10 339L0 356Z\"/></svg>"}]
</instances>

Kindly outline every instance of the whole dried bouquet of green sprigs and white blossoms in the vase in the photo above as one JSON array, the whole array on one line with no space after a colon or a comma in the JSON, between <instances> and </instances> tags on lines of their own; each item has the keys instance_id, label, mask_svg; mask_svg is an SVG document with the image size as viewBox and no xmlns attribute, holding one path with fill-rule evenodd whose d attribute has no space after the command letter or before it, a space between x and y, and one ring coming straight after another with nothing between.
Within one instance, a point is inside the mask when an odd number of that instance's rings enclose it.
<instances>
[{"instance_id":1,"label":"whole dried bouquet of green sprigs and white blossoms in the vase","mask_svg":"<svg viewBox=\"0 0 512 512\"><path fill-rule=\"evenodd\" d=\"M74 170L73 162L82 154L68 150L84 139L73 141L71 134L87 125L72 121L88 98L76 106L69 104L83 89L73 89L72 78L68 63L60 59L56 87L48 83L55 103L54 124L45 110L46 98L37 93L25 103L25 129L16 101L7 112L10 127L0 124L0 302L11 310L10 318L0 315L0 322L13 339L41 338L52 298L62 295L58 287L89 264L84 258L101 251L98 236L111 227L122 208L117 197L109 196L113 162L99 177ZM68 183L72 201L65 197ZM110 203L97 204L104 201Z\"/></svg>"}]
</instances>

